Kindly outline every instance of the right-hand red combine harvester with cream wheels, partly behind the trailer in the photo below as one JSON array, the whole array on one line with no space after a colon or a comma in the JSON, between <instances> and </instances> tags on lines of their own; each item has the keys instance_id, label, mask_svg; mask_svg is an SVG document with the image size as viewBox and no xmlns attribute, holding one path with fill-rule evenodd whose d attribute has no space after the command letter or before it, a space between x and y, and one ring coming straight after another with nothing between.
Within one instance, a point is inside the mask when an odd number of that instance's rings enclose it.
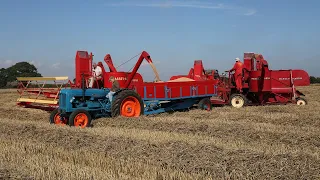
<instances>
[{"instance_id":1,"label":"right-hand red combine harvester with cream wheels, partly behind the trailer","mask_svg":"<svg viewBox=\"0 0 320 180\"><path fill-rule=\"evenodd\" d=\"M306 71L295 70L270 70L268 62L261 54L244 53L242 92L236 87L234 74L229 72L228 78L220 77L217 71L204 70L200 60L195 61L188 75L173 76L172 80L180 77L190 79L216 79L218 96L211 98L214 105L232 105L243 107L245 105L266 104L307 104L305 96L296 89L297 86L310 85L310 78ZM227 71L228 72L228 71Z\"/></svg>"}]
</instances>

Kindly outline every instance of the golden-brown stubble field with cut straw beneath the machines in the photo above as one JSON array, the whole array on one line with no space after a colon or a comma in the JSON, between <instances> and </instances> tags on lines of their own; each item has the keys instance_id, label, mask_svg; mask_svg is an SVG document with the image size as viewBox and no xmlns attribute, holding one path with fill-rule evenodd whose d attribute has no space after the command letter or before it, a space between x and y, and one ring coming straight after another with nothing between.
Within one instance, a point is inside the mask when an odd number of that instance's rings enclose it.
<instances>
[{"instance_id":1,"label":"golden-brown stubble field with cut straw beneath the machines","mask_svg":"<svg viewBox=\"0 0 320 180\"><path fill-rule=\"evenodd\" d=\"M92 128L49 124L0 91L0 179L319 179L320 86L307 106L192 110Z\"/></svg>"}]
</instances>

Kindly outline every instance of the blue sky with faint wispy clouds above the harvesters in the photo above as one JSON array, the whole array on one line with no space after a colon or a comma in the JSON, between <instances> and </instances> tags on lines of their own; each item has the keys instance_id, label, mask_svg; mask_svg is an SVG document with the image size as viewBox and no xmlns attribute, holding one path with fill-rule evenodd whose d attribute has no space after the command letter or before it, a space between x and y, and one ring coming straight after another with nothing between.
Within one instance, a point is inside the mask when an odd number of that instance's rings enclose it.
<instances>
[{"instance_id":1,"label":"blue sky with faint wispy clouds above the harvesters","mask_svg":"<svg viewBox=\"0 0 320 180\"><path fill-rule=\"evenodd\" d=\"M256 52L272 69L320 76L319 8L317 0L1 0L0 67L29 61L43 76L71 79L77 50L95 61L110 53L116 66L145 50L168 80L196 59L222 72ZM139 72L154 77L149 66Z\"/></svg>"}]
</instances>

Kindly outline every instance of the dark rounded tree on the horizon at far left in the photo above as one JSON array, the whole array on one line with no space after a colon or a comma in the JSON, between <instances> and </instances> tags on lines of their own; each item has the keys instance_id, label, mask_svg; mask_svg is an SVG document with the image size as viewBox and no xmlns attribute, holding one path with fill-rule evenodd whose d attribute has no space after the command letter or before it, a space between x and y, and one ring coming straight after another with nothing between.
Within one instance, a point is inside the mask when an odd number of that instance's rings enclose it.
<instances>
[{"instance_id":1,"label":"dark rounded tree on the horizon at far left","mask_svg":"<svg viewBox=\"0 0 320 180\"><path fill-rule=\"evenodd\" d=\"M6 69L7 82L13 82L17 77L42 77L37 68L28 62L18 62Z\"/></svg>"}]
</instances>

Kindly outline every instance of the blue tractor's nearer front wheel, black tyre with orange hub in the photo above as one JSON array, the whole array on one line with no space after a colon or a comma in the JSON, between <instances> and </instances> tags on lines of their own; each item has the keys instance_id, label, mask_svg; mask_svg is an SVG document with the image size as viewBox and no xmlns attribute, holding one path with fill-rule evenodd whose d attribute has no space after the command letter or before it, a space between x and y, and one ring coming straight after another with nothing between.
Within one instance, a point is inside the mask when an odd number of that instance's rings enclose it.
<instances>
[{"instance_id":1,"label":"blue tractor's nearer front wheel, black tyre with orange hub","mask_svg":"<svg viewBox=\"0 0 320 180\"><path fill-rule=\"evenodd\" d=\"M90 113L84 109L75 110L69 116L69 126L90 127L91 121L92 117Z\"/></svg>"}]
</instances>

